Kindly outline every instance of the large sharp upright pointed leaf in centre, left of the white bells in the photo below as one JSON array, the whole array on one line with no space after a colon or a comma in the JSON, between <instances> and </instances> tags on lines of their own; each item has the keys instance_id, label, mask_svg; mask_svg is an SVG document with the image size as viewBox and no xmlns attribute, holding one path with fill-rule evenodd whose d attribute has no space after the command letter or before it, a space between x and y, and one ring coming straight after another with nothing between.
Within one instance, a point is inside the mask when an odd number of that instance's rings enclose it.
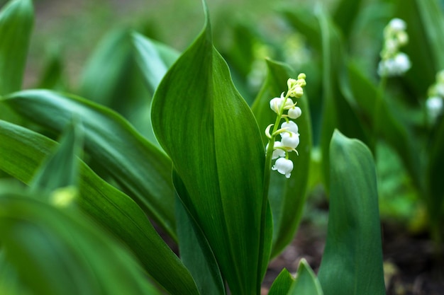
<instances>
[{"instance_id":1,"label":"large sharp upright pointed leaf in centre, left of the white bells","mask_svg":"<svg viewBox=\"0 0 444 295\"><path fill-rule=\"evenodd\" d=\"M271 241L262 198L265 151L255 117L213 47L208 19L157 88L151 115L189 193L179 197L201 226L231 292L258 294Z\"/></svg>"}]
</instances>

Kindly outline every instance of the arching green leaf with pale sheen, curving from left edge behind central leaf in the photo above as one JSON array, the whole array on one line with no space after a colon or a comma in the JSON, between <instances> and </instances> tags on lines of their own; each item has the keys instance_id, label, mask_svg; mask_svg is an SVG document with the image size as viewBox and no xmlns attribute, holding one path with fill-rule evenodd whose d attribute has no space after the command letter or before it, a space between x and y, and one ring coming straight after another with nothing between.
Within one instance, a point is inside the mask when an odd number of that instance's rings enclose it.
<instances>
[{"instance_id":1,"label":"arching green leaf with pale sheen, curving from left edge behind central leaf","mask_svg":"<svg viewBox=\"0 0 444 295\"><path fill-rule=\"evenodd\" d=\"M21 91L1 101L55 132L61 132L73 116L79 117L88 154L175 238L170 159L121 116L83 98L54 91Z\"/></svg>"}]
</instances>

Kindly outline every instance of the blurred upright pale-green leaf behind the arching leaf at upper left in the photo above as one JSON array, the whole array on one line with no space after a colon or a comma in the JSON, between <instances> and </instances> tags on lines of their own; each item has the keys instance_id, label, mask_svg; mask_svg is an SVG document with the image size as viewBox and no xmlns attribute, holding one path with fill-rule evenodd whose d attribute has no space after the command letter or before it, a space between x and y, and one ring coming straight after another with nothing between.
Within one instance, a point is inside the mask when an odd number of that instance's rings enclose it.
<instances>
[{"instance_id":1,"label":"blurred upright pale-green leaf behind the arching leaf at upper left","mask_svg":"<svg viewBox=\"0 0 444 295\"><path fill-rule=\"evenodd\" d=\"M131 30L118 28L106 34L82 73L80 95L123 115L152 143L152 93L147 91L133 54Z\"/></svg>"}]
</instances>

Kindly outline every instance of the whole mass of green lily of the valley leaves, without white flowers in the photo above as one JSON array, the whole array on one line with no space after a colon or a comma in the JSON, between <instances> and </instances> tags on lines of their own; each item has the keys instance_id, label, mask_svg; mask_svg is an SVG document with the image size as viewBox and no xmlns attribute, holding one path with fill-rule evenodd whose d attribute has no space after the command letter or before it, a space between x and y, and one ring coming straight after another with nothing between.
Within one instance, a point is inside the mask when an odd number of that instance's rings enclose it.
<instances>
[{"instance_id":1,"label":"whole mass of green lily of the valley leaves, without white flowers","mask_svg":"<svg viewBox=\"0 0 444 295\"><path fill-rule=\"evenodd\" d=\"M440 241L444 120L426 115L444 69L438 1L285 7L294 32L285 47L241 24L222 54L205 3L204 12L184 52L113 30L78 88L55 58L22 90L33 2L1 8L0 294L258 295L320 182L329 216L318 274L301 260L268 294L385 294L380 146L398 156ZM382 30L395 16L408 24L412 67L379 79ZM297 76L288 64L307 82L287 179L270 173L265 129L276 118L270 100Z\"/></svg>"}]
</instances>

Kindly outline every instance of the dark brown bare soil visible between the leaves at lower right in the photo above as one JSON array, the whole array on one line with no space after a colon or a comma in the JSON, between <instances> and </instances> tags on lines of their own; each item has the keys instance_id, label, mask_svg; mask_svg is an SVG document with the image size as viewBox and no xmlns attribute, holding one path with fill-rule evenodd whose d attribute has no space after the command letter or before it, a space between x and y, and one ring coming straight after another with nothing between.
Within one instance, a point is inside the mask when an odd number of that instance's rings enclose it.
<instances>
[{"instance_id":1,"label":"dark brown bare soil visible between the leaves at lower right","mask_svg":"<svg viewBox=\"0 0 444 295\"><path fill-rule=\"evenodd\" d=\"M295 273L301 258L317 272L325 238L326 232L318 226L302 223L292 244L270 263L262 294L267 294L284 267ZM382 224L382 250L387 295L444 294L444 265L435 257L434 244L426 233L411 235L393 225ZM440 255L444 257L444 248L440 249Z\"/></svg>"}]
</instances>

